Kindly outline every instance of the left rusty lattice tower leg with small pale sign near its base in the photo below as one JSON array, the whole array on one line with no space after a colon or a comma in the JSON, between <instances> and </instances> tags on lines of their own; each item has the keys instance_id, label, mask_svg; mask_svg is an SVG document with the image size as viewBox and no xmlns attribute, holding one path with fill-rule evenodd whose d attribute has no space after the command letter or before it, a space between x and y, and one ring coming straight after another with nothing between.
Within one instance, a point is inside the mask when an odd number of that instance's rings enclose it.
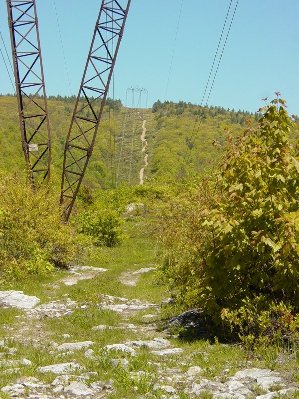
<instances>
[{"instance_id":1,"label":"left rusty lattice tower leg with small pale sign near its base","mask_svg":"<svg viewBox=\"0 0 299 399\"><path fill-rule=\"evenodd\" d=\"M50 179L51 138L35 0L6 0L22 148L35 188Z\"/></svg>"}]
</instances>

